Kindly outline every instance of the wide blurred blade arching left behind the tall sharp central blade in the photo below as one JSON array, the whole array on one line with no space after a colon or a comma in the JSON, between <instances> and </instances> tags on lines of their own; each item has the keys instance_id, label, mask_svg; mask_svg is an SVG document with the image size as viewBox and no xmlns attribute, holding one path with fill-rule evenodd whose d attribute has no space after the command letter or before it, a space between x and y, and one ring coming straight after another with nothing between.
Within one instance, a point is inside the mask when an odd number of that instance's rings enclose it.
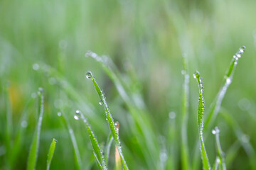
<instances>
[{"instance_id":1,"label":"wide blurred blade arching left behind the tall sharp central blade","mask_svg":"<svg viewBox=\"0 0 256 170\"><path fill-rule=\"evenodd\" d=\"M158 145L158 141L156 137L156 132L154 132L154 128L151 126L151 120L149 116L146 115L146 111L139 107L134 101L134 98L129 94L133 94L133 92L125 86L124 82L122 82L121 76L119 72L117 72L116 66L111 61L110 57L102 56L100 57L95 52L86 52L85 56L90 56L99 62L102 66L102 69L105 71L108 77L112 79L114 85L119 92L119 95L124 100L129 113L131 113L134 123L137 124L138 128L132 126L131 131L134 133L134 137L138 141L138 149L140 149L143 153L144 159L146 159L146 164L148 167L159 168L159 154L160 149ZM129 90L129 93L127 92ZM141 100L142 101L142 100ZM140 130L138 130L140 129ZM146 147L146 149L144 149Z\"/></svg>"}]
</instances>

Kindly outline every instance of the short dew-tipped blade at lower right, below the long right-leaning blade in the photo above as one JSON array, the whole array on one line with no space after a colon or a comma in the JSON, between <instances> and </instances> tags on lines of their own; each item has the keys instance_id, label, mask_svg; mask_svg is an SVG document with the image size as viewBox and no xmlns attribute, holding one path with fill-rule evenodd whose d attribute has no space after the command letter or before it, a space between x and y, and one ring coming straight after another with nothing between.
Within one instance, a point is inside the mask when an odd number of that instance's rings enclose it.
<instances>
[{"instance_id":1,"label":"short dew-tipped blade at lower right, below the long right-leaning blade","mask_svg":"<svg viewBox=\"0 0 256 170\"><path fill-rule=\"evenodd\" d=\"M218 129L218 127L215 127L212 133L213 135L215 135L220 170L226 170L227 168L225 166L224 153L220 146L220 130Z\"/></svg>"}]
</instances>

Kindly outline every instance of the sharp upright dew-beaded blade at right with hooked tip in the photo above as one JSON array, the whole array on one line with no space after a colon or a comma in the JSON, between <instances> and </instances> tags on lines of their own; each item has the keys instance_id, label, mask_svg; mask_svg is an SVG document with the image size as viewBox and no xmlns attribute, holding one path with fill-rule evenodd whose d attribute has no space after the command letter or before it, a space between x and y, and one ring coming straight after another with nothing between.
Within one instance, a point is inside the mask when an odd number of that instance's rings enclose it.
<instances>
[{"instance_id":1,"label":"sharp upright dew-beaded blade at right with hooked tip","mask_svg":"<svg viewBox=\"0 0 256 170\"><path fill-rule=\"evenodd\" d=\"M203 169L208 170L210 169L210 163L208 161L208 157L206 154L206 147L203 142L203 112L204 112L204 99L203 99L203 81L202 77L200 76L199 72L193 74L193 77L198 82L199 88L199 100L198 100L198 131L199 131L199 139L201 144L201 157L203 160Z\"/></svg>"}]
</instances>

